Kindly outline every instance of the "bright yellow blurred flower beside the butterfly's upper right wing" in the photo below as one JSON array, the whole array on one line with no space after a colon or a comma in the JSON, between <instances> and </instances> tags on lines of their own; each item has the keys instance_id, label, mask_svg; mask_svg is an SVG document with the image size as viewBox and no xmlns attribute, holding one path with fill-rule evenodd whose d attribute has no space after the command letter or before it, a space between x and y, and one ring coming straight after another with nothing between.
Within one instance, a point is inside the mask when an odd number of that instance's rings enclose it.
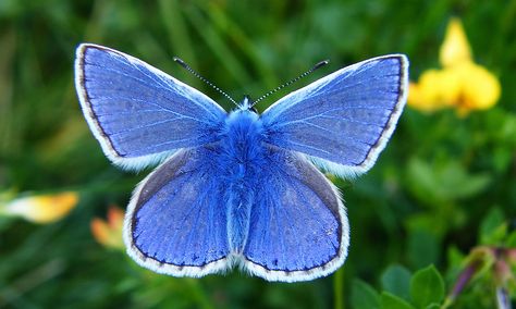
<instances>
[{"instance_id":1,"label":"bright yellow blurred flower beside the butterfly's upper right wing","mask_svg":"<svg viewBox=\"0 0 516 309\"><path fill-rule=\"evenodd\" d=\"M454 107L458 114L471 110L486 110L500 98L499 79L471 58L466 34L460 21L452 18L440 50L441 70L423 72L418 83L410 83L408 104L432 112Z\"/></svg>"}]
</instances>

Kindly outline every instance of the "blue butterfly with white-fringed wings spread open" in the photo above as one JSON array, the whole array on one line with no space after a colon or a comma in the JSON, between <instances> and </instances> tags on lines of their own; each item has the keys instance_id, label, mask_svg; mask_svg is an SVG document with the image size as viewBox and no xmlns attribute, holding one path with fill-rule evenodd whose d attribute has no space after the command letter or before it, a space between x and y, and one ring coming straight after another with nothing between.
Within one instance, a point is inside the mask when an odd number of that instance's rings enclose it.
<instances>
[{"instance_id":1,"label":"blue butterfly with white-fringed wings spread open","mask_svg":"<svg viewBox=\"0 0 516 309\"><path fill-rule=\"evenodd\" d=\"M267 281L325 276L345 261L349 225L320 171L368 171L407 96L408 60L373 58L291 92L258 114L226 112L199 90L123 52L76 50L75 86L106 156L140 170L123 237L142 267L199 277L234 267Z\"/></svg>"}]
</instances>

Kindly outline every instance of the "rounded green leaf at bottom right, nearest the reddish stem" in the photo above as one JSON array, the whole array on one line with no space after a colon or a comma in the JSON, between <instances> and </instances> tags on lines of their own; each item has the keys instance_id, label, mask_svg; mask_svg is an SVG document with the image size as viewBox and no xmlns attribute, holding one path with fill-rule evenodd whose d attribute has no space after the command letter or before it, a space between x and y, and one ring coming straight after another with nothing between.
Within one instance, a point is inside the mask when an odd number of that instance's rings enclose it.
<instances>
[{"instance_id":1,"label":"rounded green leaf at bottom right, nearest the reddish stem","mask_svg":"<svg viewBox=\"0 0 516 309\"><path fill-rule=\"evenodd\" d=\"M444 298L444 282L433 264L414 274L410 280L410 297L420 308L439 304Z\"/></svg>"}]
</instances>

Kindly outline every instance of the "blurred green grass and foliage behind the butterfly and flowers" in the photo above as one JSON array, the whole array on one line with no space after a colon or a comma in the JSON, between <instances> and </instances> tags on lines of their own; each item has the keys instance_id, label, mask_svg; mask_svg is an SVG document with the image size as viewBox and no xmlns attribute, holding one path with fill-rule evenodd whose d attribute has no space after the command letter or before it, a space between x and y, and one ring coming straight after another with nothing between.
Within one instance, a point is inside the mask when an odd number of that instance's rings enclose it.
<instances>
[{"instance_id":1,"label":"blurred green grass and foliage behind the butterfly and flowers","mask_svg":"<svg viewBox=\"0 0 516 309\"><path fill-rule=\"evenodd\" d=\"M220 94L172 57L235 99L258 98L331 60L261 101L265 110L304 84L385 53L406 53L417 81L439 66L453 16L462 18L475 60L500 78L502 97L466 118L406 108L367 175L334 178L352 228L349 257L336 274L296 284L238 271L174 279L95 240L91 220L106 218L111 205L124 208L150 170L115 169L90 134L73 85L79 42L143 59L226 109ZM0 0L0 202L30 194L79 196L53 223L0 218L0 307L496 308L501 291L514 302L515 18L516 1ZM500 270L502 260L508 271ZM443 305L471 265L471 280Z\"/></svg>"}]
</instances>

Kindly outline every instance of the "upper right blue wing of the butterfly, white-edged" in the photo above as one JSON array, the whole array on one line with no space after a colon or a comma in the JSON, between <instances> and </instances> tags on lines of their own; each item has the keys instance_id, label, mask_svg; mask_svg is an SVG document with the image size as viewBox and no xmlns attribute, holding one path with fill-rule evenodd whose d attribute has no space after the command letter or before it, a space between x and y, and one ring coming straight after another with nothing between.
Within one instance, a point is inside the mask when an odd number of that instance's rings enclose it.
<instances>
[{"instance_id":1,"label":"upper right blue wing of the butterfly, white-edged","mask_svg":"<svg viewBox=\"0 0 516 309\"><path fill-rule=\"evenodd\" d=\"M340 176L369 170L405 106L408 60L370 59L280 99L262 114L268 143L308 154Z\"/></svg>"}]
</instances>

